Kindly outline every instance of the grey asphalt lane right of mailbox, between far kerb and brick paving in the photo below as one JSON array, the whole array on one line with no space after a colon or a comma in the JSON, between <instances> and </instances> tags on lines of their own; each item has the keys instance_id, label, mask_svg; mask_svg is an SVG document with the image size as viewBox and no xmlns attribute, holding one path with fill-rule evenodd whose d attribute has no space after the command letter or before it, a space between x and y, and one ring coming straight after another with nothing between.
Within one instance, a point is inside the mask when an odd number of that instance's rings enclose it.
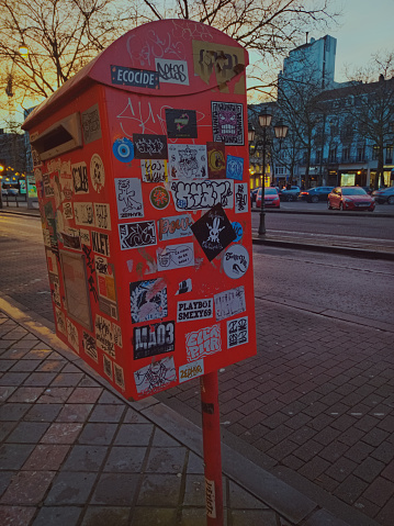
<instances>
[{"instance_id":1,"label":"grey asphalt lane right of mailbox, between far kerb and brick paving","mask_svg":"<svg viewBox=\"0 0 394 526\"><path fill-rule=\"evenodd\" d=\"M394 262L254 247L256 298L393 323Z\"/></svg>"}]
</instances>

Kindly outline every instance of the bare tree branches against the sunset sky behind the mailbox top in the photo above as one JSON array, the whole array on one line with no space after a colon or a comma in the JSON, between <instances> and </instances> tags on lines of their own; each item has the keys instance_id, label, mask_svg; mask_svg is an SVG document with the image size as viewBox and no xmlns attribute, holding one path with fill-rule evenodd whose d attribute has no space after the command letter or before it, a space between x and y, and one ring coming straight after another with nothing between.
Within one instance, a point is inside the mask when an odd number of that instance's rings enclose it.
<instances>
[{"instance_id":1,"label":"bare tree branches against the sunset sky behind the mailbox top","mask_svg":"<svg viewBox=\"0 0 394 526\"><path fill-rule=\"evenodd\" d=\"M0 0L0 89L18 102L48 97L121 34L165 18L215 26L263 61L292 47L305 29L330 21L329 5L330 0ZM21 44L30 51L26 58L18 53Z\"/></svg>"}]
</instances>

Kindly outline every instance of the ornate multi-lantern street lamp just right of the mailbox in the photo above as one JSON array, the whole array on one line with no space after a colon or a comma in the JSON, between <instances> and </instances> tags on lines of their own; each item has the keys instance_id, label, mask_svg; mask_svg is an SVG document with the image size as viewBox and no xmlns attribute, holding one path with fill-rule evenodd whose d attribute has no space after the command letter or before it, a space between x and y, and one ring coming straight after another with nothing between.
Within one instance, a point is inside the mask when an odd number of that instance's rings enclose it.
<instances>
[{"instance_id":1,"label":"ornate multi-lantern street lamp just right of the mailbox","mask_svg":"<svg viewBox=\"0 0 394 526\"><path fill-rule=\"evenodd\" d=\"M267 108L262 110L262 113L259 115L259 125L262 130L262 133L259 134L262 139L257 141L255 143L255 128L252 126L248 130L248 141L249 141L249 154L252 152L251 148L255 146L255 152L258 149L262 150L262 165L261 165L261 172L262 172L262 184L261 184L261 209L260 209L260 224L259 224L259 236L266 235L266 206L264 206L264 194L266 194L266 150L267 150L267 130L270 127L272 121L272 115L267 112ZM278 123L273 126L273 131L275 137L279 138L280 143L283 138L285 138L288 134L289 126L286 126L282 120L278 121ZM255 143L255 145L254 145Z\"/></svg>"}]
</instances>

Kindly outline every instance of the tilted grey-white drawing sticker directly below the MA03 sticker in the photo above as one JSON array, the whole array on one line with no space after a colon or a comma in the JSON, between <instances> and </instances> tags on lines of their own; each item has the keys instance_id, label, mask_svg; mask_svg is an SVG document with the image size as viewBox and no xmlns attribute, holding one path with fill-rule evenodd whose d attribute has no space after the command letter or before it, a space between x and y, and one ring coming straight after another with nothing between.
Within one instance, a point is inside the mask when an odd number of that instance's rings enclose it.
<instances>
[{"instance_id":1,"label":"tilted grey-white drawing sticker directly below the MA03 sticker","mask_svg":"<svg viewBox=\"0 0 394 526\"><path fill-rule=\"evenodd\" d=\"M134 381L138 394L154 394L169 388L177 381L173 357L167 356L135 371Z\"/></svg>"}]
</instances>

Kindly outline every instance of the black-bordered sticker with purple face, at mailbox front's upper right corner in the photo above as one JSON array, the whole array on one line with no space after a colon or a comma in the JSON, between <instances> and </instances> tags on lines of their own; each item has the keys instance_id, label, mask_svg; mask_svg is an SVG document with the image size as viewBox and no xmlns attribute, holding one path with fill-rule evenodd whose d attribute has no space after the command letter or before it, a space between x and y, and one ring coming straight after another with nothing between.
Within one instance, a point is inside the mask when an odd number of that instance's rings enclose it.
<instances>
[{"instance_id":1,"label":"black-bordered sticker with purple face, at mailbox front's upper right corner","mask_svg":"<svg viewBox=\"0 0 394 526\"><path fill-rule=\"evenodd\" d=\"M211 102L213 141L227 145L244 145L243 104Z\"/></svg>"}]
</instances>

